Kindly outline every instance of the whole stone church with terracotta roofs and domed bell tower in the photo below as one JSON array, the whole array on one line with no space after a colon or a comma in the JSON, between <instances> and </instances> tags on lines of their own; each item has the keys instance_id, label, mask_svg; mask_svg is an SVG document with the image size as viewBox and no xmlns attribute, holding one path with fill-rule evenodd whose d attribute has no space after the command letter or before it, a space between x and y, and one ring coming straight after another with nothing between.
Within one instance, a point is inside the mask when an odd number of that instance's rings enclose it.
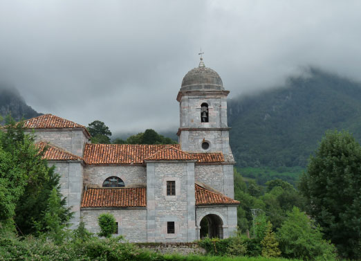
<instances>
[{"instance_id":1,"label":"whole stone church with terracotta roofs and domed bell tower","mask_svg":"<svg viewBox=\"0 0 361 261\"><path fill-rule=\"evenodd\" d=\"M237 230L227 96L216 71L198 67L178 91L177 145L91 144L86 127L51 114L26 120L61 191L93 233L111 213L129 242L192 242Z\"/></svg>"}]
</instances>

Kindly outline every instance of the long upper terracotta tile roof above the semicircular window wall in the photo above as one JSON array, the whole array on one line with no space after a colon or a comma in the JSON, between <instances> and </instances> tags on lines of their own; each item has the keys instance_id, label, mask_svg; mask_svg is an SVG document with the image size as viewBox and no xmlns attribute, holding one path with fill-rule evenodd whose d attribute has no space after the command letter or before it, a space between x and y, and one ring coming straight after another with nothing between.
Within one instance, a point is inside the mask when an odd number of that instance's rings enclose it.
<instances>
[{"instance_id":1,"label":"long upper terracotta tile roof above the semicircular window wall","mask_svg":"<svg viewBox=\"0 0 361 261\"><path fill-rule=\"evenodd\" d=\"M167 145L144 144L86 144L84 160L88 164L142 164L147 156ZM178 144L173 145L179 147Z\"/></svg>"}]
</instances>

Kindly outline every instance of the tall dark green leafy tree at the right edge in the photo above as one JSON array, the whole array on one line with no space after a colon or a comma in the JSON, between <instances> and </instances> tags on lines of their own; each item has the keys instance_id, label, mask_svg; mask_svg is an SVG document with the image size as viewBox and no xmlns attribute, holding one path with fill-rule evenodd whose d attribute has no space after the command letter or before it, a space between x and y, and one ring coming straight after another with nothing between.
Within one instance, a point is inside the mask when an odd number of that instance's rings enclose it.
<instances>
[{"instance_id":1,"label":"tall dark green leafy tree at the right edge","mask_svg":"<svg viewBox=\"0 0 361 261\"><path fill-rule=\"evenodd\" d=\"M299 188L340 255L361 258L361 146L353 136L326 132Z\"/></svg>"}]
</instances>

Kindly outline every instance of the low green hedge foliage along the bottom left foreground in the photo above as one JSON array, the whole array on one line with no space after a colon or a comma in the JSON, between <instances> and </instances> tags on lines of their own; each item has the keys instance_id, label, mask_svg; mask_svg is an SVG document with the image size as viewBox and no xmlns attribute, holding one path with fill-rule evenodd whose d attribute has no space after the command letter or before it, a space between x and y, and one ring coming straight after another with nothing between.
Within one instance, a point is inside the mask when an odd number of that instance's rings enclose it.
<instances>
[{"instance_id":1,"label":"low green hedge foliage along the bottom left foreground","mask_svg":"<svg viewBox=\"0 0 361 261\"><path fill-rule=\"evenodd\" d=\"M34 237L0 237L0 260L136 260L136 261L281 261L282 258L228 258L224 256L203 255L161 255L158 253L138 249L133 244L124 242L122 237L100 239L90 237L80 241L78 237L61 245L53 244L50 240L39 240Z\"/></svg>"}]
</instances>

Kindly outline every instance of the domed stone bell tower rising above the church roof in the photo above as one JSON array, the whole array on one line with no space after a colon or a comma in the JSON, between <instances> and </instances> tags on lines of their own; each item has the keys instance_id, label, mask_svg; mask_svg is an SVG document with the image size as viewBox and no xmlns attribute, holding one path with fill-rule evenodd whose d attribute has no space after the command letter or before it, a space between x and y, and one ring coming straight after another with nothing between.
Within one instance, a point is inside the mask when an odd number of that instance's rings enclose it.
<instances>
[{"instance_id":1,"label":"domed stone bell tower rising above the church roof","mask_svg":"<svg viewBox=\"0 0 361 261\"><path fill-rule=\"evenodd\" d=\"M227 123L228 93L219 74L207 68L201 57L199 66L183 78L177 96L180 104L177 135L182 150L223 152L233 161Z\"/></svg>"}]
</instances>

